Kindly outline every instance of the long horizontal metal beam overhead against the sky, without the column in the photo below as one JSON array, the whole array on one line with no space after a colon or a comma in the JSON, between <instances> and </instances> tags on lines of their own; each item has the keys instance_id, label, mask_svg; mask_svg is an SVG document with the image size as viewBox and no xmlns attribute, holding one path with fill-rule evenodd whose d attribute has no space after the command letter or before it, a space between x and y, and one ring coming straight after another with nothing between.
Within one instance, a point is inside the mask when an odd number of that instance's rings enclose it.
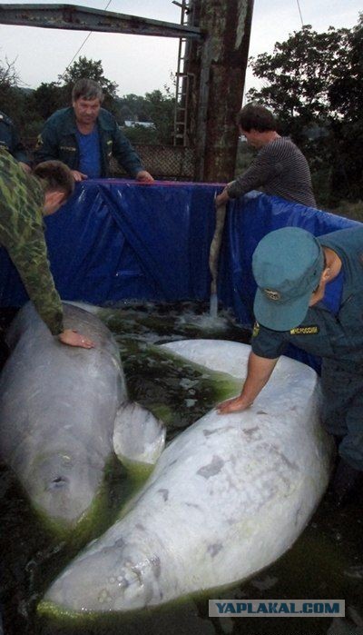
<instances>
[{"instance_id":1,"label":"long horizontal metal beam overhead against the sky, without the column","mask_svg":"<svg viewBox=\"0 0 363 635\"><path fill-rule=\"evenodd\" d=\"M196 26L176 25L78 5L0 5L0 24L194 40L202 38L201 29Z\"/></svg>"}]
</instances>

